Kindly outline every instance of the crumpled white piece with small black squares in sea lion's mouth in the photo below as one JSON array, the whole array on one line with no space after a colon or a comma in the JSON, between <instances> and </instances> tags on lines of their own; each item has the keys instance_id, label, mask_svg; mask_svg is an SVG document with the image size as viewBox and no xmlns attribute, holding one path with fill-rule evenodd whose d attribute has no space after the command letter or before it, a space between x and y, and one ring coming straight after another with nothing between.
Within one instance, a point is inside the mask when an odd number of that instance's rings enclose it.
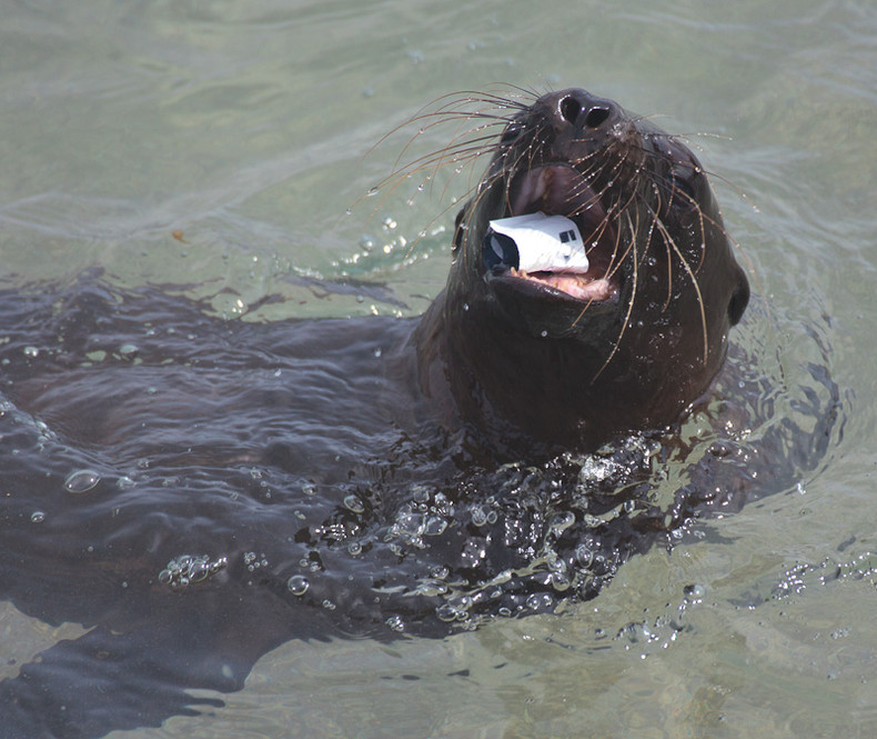
<instances>
[{"instance_id":1,"label":"crumpled white piece with small black squares in sea lion's mouth","mask_svg":"<svg viewBox=\"0 0 877 739\"><path fill-rule=\"evenodd\" d=\"M582 234L568 218L536 212L501 218L491 221L490 227L514 242L517 269L525 272L587 272ZM507 262L510 254L497 252L497 257Z\"/></svg>"}]
</instances>

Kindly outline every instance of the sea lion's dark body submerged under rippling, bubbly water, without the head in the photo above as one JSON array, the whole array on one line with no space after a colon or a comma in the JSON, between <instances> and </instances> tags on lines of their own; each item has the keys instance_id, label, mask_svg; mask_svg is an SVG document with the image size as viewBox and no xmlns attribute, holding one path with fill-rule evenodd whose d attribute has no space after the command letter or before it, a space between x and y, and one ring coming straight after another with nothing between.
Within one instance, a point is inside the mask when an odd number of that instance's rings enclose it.
<instances>
[{"instance_id":1,"label":"sea lion's dark body submerged under rippling, bubbly water, without the head","mask_svg":"<svg viewBox=\"0 0 877 739\"><path fill-rule=\"evenodd\" d=\"M0 597L88 629L0 683L3 737L221 706L187 690L239 690L291 639L444 636L592 598L697 517L794 488L843 427L808 328L806 387L733 347L672 435L495 459L421 412L416 320L206 306L97 274L0 292Z\"/></svg>"}]
</instances>

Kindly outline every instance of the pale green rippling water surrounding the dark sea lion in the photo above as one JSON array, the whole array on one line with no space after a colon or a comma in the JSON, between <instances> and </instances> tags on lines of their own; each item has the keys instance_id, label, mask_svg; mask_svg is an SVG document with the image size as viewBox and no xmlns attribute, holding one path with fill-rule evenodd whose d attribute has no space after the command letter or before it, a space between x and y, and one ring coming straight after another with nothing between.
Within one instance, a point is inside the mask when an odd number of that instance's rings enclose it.
<instances>
[{"instance_id":1,"label":"pale green rippling water surrounding the dark sea lion","mask_svg":"<svg viewBox=\"0 0 877 739\"><path fill-rule=\"evenodd\" d=\"M868 2L7 8L14 282L98 266L219 314L417 313L447 233L410 244L455 208L437 186L406 204L412 182L345 216L406 137L372 144L454 90L582 86L688 134L760 296L739 340L779 347L793 388L821 342L841 392L843 433L799 485L635 557L594 601L445 640L288 642L214 716L113 736L874 736L875 38ZM9 605L0 629L2 675L82 633Z\"/></svg>"}]
</instances>

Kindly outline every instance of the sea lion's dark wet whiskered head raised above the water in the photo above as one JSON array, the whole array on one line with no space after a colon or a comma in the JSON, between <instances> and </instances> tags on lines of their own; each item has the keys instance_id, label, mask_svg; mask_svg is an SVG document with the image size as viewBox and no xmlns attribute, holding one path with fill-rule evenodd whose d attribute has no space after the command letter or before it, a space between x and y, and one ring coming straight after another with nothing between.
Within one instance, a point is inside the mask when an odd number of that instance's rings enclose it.
<instances>
[{"instance_id":1,"label":"sea lion's dark wet whiskered head raised above the water","mask_svg":"<svg viewBox=\"0 0 877 739\"><path fill-rule=\"evenodd\" d=\"M425 319L442 321L430 334L462 415L564 446L674 423L709 388L749 296L700 163L584 90L506 120L457 216L441 319ZM504 251L491 222L532 213L575 223L586 271L527 271Z\"/></svg>"}]
</instances>

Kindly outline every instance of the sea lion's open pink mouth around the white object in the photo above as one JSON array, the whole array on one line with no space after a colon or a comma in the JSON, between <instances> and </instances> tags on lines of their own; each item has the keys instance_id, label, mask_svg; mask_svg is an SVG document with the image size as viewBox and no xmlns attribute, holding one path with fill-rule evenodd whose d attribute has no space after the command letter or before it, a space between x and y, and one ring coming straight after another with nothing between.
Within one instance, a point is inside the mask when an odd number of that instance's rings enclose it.
<instances>
[{"instance_id":1,"label":"sea lion's open pink mouth around the white object","mask_svg":"<svg viewBox=\"0 0 877 739\"><path fill-rule=\"evenodd\" d=\"M497 240L488 232L484 258L492 278L528 280L585 302L617 302L621 273L612 269L617 248L616 230L597 193L581 172L569 164L555 163L518 174L510 188L507 210L511 218L543 213L573 221L577 227L576 236L583 240L587 269L571 269L562 253L557 253L554 262L543 258L537 269L527 269L517 259L508 259L507 252L500 252ZM556 244L560 251L565 242L557 239ZM512 247L508 242L504 246L506 250ZM512 248L517 250L517 247L520 244Z\"/></svg>"}]
</instances>

